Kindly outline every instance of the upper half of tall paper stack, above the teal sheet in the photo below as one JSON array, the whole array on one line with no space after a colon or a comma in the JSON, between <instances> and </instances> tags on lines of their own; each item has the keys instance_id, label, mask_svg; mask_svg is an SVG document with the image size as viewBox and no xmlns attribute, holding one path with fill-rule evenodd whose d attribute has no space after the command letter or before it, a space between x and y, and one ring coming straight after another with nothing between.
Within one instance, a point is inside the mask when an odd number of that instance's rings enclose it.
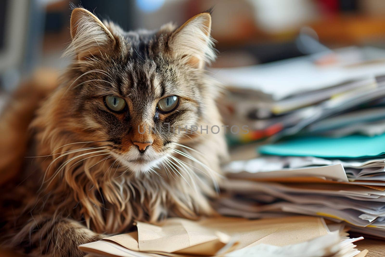
<instances>
[{"instance_id":1,"label":"upper half of tall paper stack, above the teal sheet","mask_svg":"<svg viewBox=\"0 0 385 257\"><path fill-rule=\"evenodd\" d=\"M213 71L228 88L221 102L225 123L250 131L229 133L231 142L385 133L385 51L349 48L335 55L346 61L320 66L305 56Z\"/></svg>"}]
</instances>

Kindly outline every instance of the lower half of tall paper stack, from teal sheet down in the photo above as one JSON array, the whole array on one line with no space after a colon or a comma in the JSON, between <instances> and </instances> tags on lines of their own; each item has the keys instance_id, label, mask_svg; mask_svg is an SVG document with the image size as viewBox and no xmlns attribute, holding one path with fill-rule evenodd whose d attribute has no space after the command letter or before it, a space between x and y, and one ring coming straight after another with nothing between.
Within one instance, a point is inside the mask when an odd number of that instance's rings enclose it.
<instances>
[{"instance_id":1,"label":"lower half of tall paper stack, from teal sheet down","mask_svg":"<svg viewBox=\"0 0 385 257\"><path fill-rule=\"evenodd\" d=\"M298 137L263 145L225 171L220 212L248 218L317 215L385 237L385 135Z\"/></svg>"}]
</instances>

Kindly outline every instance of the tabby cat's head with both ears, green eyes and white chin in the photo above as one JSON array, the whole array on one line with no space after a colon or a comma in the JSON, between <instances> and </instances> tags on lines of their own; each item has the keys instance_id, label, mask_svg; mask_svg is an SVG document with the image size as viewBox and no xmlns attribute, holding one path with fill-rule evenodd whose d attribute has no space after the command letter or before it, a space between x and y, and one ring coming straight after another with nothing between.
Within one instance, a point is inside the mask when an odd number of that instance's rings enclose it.
<instances>
[{"instance_id":1,"label":"tabby cat's head with both ears, green eyes and white chin","mask_svg":"<svg viewBox=\"0 0 385 257\"><path fill-rule=\"evenodd\" d=\"M57 125L73 141L102 141L129 170L147 172L181 141L199 140L192 126L209 122L216 109L216 89L203 70L215 57L209 12L179 28L124 32L75 8L70 30L74 62L54 104L65 117Z\"/></svg>"}]
</instances>

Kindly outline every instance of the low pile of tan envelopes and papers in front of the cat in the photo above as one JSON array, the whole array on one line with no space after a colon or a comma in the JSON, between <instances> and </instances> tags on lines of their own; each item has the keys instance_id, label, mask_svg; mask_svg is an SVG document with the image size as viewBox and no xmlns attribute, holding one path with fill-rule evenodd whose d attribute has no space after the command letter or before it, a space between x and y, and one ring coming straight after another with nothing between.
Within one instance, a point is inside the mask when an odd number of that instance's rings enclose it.
<instances>
[{"instance_id":1,"label":"low pile of tan envelopes and papers in front of the cat","mask_svg":"<svg viewBox=\"0 0 385 257\"><path fill-rule=\"evenodd\" d=\"M342 224L317 217L263 220L209 218L191 221L170 218L159 225L137 222L137 232L80 245L94 256L365 256Z\"/></svg>"}]
</instances>

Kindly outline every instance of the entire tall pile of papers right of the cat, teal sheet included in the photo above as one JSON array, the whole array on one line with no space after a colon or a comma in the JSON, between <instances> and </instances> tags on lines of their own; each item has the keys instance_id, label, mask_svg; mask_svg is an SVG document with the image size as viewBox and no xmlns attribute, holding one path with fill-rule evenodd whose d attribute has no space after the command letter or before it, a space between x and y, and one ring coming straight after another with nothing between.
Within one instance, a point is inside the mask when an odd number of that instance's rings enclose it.
<instances>
[{"instance_id":1,"label":"entire tall pile of papers right of the cat, teal sheet included","mask_svg":"<svg viewBox=\"0 0 385 257\"><path fill-rule=\"evenodd\" d=\"M230 89L227 125L251 128L232 142L266 139L233 150L220 213L315 215L385 238L385 52L334 54L345 61L304 56L217 72Z\"/></svg>"}]
</instances>

